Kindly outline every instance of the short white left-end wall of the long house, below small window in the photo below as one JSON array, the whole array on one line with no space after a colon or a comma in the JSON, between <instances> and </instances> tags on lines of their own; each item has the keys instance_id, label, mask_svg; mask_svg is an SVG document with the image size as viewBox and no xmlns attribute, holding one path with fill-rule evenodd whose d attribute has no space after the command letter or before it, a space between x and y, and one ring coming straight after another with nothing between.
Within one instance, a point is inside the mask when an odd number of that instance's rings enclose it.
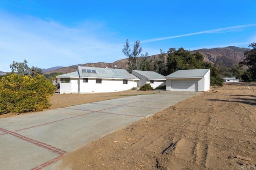
<instances>
[{"instance_id":1,"label":"short white left-end wall of the long house, below small window","mask_svg":"<svg viewBox=\"0 0 256 170\"><path fill-rule=\"evenodd\" d=\"M60 82L60 93L78 93L78 78L70 78L70 83Z\"/></svg>"}]
</instances>

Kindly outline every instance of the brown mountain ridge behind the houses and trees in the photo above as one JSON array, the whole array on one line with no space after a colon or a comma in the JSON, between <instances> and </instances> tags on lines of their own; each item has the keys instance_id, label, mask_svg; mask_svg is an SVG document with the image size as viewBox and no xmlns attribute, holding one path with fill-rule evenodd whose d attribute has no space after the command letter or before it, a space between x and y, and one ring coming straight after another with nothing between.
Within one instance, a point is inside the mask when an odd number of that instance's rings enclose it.
<instances>
[{"instance_id":1,"label":"brown mountain ridge behind the houses and trees","mask_svg":"<svg viewBox=\"0 0 256 170\"><path fill-rule=\"evenodd\" d=\"M224 48L212 48L212 49L197 49L194 51L190 51L191 53L202 53L204 55L204 61L208 61L212 64L218 63L218 61L222 61L223 65L226 67L230 67L236 63L239 63L240 61L243 61L244 52L250 50L250 48L240 48L240 47L224 47ZM148 59L158 59L160 54L151 55L148 56ZM167 57L167 54L165 54L165 59ZM115 68L115 65L117 65L118 69L128 69L128 59L120 59L118 61L115 61L114 63L86 63L86 64L78 64L79 66L88 66L88 67L108 67L108 68ZM72 65L69 67L63 67L61 69L57 69L54 71L48 71L49 73L59 72L59 73L70 73L77 71L78 65Z\"/></svg>"}]
</instances>

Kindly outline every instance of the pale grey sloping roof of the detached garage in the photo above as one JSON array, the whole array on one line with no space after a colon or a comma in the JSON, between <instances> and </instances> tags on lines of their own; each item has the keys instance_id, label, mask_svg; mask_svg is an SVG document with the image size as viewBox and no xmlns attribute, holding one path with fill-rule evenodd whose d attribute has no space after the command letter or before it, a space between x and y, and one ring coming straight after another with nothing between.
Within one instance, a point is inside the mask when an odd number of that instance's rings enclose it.
<instances>
[{"instance_id":1,"label":"pale grey sloping roof of the detached garage","mask_svg":"<svg viewBox=\"0 0 256 170\"><path fill-rule=\"evenodd\" d=\"M189 69L178 70L172 74L167 75L166 79L180 79L180 78L203 78L210 69Z\"/></svg>"}]
</instances>

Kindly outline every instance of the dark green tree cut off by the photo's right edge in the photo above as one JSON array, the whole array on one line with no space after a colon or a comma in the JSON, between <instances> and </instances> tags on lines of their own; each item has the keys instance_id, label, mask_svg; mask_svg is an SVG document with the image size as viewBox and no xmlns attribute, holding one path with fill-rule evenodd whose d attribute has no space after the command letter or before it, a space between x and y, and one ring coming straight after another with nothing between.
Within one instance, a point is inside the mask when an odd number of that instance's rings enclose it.
<instances>
[{"instance_id":1,"label":"dark green tree cut off by the photo's right edge","mask_svg":"<svg viewBox=\"0 0 256 170\"><path fill-rule=\"evenodd\" d=\"M240 62L241 65L246 65L248 71L252 75L252 78L256 79L256 42L253 42L249 45L252 47L251 50L244 52L245 59Z\"/></svg>"}]
</instances>

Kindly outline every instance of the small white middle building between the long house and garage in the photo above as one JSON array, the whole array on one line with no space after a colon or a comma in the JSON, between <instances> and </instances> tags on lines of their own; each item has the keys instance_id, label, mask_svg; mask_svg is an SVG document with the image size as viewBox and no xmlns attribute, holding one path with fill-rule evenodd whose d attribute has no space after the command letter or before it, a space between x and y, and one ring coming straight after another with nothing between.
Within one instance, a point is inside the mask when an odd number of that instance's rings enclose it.
<instances>
[{"instance_id":1,"label":"small white middle building between the long house and garage","mask_svg":"<svg viewBox=\"0 0 256 170\"><path fill-rule=\"evenodd\" d=\"M140 78L139 87L148 83L150 83L153 89L158 86L166 85L164 76L154 71L132 70L132 74Z\"/></svg>"}]
</instances>

